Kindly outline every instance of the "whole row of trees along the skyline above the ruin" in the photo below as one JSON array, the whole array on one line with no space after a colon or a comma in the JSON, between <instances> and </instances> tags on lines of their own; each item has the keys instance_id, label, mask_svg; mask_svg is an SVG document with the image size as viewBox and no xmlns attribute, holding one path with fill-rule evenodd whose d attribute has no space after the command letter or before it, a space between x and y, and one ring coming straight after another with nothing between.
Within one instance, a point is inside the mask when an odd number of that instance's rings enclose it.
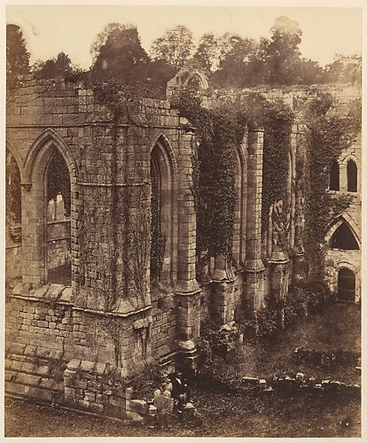
<instances>
[{"instance_id":1,"label":"whole row of trees along the skyline above the ruin","mask_svg":"<svg viewBox=\"0 0 367 443\"><path fill-rule=\"evenodd\" d=\"M91 44L92 65L90 72L83 75L98 82L121 82L144 94L159 89L159 95L183 66L205 70L211 83L219 88L362 81L360 56L337 55L332 63L322 67L315 60L302 57L301 36L299 24L282 16L275 20L269 38L255 41L241 35L207 32L200 36L195 48L190 29L178 25L157 38L148 55L136 26L113 22ZM7 25L8 85L16 75L29 73L29 57L21 28ZM36 61L32 72L38 78L64 76L74 80L80 79L82 69L74 66L65 52L60 52L56 58Z\"/></svg>"}]
</instances>

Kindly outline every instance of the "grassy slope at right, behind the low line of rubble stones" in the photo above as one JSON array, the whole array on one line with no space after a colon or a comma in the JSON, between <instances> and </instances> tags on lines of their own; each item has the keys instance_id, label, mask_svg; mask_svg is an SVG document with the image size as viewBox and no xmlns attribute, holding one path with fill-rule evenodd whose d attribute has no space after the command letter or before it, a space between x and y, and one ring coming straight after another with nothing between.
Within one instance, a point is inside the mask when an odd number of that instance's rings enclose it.
<instances>
[{"instance_id":1,"label":"grassy slope at right, behind the low line of rubble stones","mask_svg":"<svg viewBox=\"0 0 367 443\"><path fill-rule=\"evenodd\" d=\"M354 304L328 304L324 314L309 314L302 323L285 330L272 340L242 346L239 371L250 377L296 374L332 378L344 383L360 383L351 364L334 368L318 367L310 361L295 361L296 347L332 351L344 349L361 353L361 311Z\"/></svg>"}]
</instances>

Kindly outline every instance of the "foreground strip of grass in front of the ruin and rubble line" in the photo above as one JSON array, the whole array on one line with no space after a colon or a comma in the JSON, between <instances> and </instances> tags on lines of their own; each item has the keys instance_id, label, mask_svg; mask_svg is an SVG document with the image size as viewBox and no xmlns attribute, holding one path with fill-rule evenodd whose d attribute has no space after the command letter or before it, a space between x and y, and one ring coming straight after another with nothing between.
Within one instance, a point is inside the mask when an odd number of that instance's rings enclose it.
<instances>
[{"instance_id":1,"label":"foreground strip of grass in front of the ruin and rubble line","mask_svg":"<svg viewBox=\"0 0 367 443\"><path fill-rule=\"evenodd\" d=\"M28 403L5 400L6 437L359 437L360 412L355 400L246 398L233 394L196 392L194 402L203 424L171 424L166 430L124 425ZM339 417L352 416L347 428Z\"/></svg>"}]
</instances>

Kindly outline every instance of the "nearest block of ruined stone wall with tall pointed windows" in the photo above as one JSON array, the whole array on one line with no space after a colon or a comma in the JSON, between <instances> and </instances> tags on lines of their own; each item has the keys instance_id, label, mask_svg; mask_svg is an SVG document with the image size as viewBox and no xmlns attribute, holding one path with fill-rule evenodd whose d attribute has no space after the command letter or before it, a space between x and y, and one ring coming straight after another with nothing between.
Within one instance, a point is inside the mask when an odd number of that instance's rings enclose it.
<instances>
[{"instance_id":1,"label":"nearest block of ruined stone wall with tall pointed windows","mask_svg":"<svg viewBox=\"0 0 367 443\"><path fill-rule=\"evenodd\" d=\"M193 128L168 101L141 99L130 112L134 123L114 125L112 110L91 90L60 79L23 78L9 94L7 150L20 168L23 240L22 283L11 284L7 294L11 348L35 346L45 361L59 353L63 363L108 363L124 376L157 357L172 361L181 353L192 360L200 291ZM165 175L166 247L158 289L151 287L149 269L153 151ZM44 199L54 152L65 160L71 181L70 221L61 225L48 220ZM49 271L69 260L71 284L50 281Z\"/></svg>"}]
</instances>

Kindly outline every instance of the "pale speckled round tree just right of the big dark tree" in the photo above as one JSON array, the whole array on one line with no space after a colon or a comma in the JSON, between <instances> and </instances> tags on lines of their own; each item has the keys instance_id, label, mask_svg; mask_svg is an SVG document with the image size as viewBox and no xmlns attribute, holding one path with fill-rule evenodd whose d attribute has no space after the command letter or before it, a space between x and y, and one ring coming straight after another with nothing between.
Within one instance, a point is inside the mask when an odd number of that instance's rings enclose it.
<instances>
[{"instance_id":1,"label":"pale speckled round tree just right of the big dark tree","mask_svg":"<svg viewBox=\"0 0 367 443\"><path fill-rule=\"evenodd\" d=\"M192 33L182 25L168 29L152 43L152 58L166 60L168 65L180 69L190 57L193 49Z\"/></svg>"}]
</instances>

